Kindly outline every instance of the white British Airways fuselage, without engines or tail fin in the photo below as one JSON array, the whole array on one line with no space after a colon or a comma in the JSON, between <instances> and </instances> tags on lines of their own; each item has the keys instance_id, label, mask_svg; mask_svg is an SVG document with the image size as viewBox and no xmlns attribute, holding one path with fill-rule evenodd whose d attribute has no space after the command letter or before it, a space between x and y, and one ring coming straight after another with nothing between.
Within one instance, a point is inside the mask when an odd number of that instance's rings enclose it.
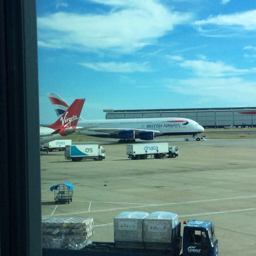
<instances>
[{"instance_id":1,"label":"white British Airways fuselage, without engines or tail fin","mask_svg":"<svg viewBox=\"0 0 256 256\"><path fill-rule=\"evenodd\" d=\"M88 127L88 130L81 131L85 135L110 138L117 138L113 133L117 134L118 131L133 129L154 131L155 136L197 134L204 131L197 122L180 117L79 120L77 126ZM113 132L115 129L116 132Z\"/></svg>"}]
</instances>

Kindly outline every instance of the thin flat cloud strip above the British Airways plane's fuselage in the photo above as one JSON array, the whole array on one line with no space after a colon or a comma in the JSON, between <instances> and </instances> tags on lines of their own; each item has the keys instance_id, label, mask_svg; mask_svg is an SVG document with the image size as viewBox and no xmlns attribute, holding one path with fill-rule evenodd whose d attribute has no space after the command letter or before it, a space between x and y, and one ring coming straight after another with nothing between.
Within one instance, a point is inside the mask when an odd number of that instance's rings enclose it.
<instances>
[{"instance_id":1,"label":"thin flat cloud strip above the British Airways plane's fuselage","mask_svg":"<svg viewBox=\"0 0 256 256\"><path fill-rule=\"evenodd\" d=\"M83 62L79 65L86 68L91 68L95 71L113 72L113 73L133 73L133 72L148 72L151 71L148 63L135 62Z\"/></svg>"}]
</instances>

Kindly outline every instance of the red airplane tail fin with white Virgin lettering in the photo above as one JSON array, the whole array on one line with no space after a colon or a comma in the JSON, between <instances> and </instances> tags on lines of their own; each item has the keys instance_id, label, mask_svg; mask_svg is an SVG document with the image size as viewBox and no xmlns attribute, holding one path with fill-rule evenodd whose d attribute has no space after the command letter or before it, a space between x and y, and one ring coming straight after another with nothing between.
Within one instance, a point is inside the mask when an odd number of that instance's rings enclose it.
<instances>
[{"instance_id":1,"label":"red airplane tail fin with white Virgin lettering","mask_svg":"<svg viewBox=\"0 0 256 256\"><path fill-rule=\"evenodd\" d=\"M55 130L52 134L68 135L75 132L84 101L85 99L76 99L55 123L47 126Z\"/></svg>"}]
</instances>

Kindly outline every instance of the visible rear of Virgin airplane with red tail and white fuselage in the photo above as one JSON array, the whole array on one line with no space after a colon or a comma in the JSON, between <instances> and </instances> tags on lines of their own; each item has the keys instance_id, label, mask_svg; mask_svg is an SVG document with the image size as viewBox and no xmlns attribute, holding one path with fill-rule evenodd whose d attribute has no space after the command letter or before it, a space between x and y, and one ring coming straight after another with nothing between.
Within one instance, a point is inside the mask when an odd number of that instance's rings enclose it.
<instances>
[{"instance_id":1,"label":"visible rear of Virgin airplane with red tail and white fuselage","mask_svg":"<svg viewBox=\"0 0 256 256\"><path fill-rule=\"evenodd\" d=\"M70 135L77 130L83 130L77 127L77 122L81 114L85 99L76 99L70 107L67 107L58 120L47 126L40 127L40 144L58 140L63 136Z\"/></svg>"}]
</instances>

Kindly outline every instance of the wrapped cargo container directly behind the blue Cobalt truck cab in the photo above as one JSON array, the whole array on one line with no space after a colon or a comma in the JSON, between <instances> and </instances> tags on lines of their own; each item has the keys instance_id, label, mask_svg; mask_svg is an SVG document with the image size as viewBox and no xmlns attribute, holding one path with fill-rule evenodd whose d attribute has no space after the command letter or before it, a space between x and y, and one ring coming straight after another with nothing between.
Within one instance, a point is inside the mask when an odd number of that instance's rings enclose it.
<instances>
[{"instance_id":1,"label":"wrapped cargo container directly behind the blue Cobalt truck cab","mask_svg":"<svg viewBox=\"0 0 256 256\"><path fill-rule=\"evenodd\" d=\"M146 249L169 249L172 233L178 225L178 215L171 212L152 212L143 219Z\"/></svg>"}]
</instances>

